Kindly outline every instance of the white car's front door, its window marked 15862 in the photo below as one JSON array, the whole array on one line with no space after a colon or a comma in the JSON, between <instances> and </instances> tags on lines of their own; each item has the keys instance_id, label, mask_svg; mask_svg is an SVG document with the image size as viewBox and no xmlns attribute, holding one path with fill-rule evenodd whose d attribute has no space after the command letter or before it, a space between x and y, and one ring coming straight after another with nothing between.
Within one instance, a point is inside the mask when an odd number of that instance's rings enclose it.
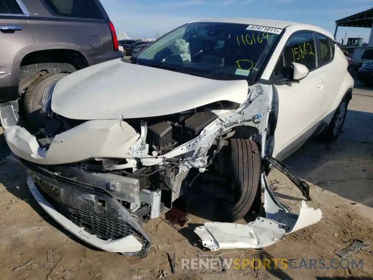
<instances>
[{"instance_id":1,"label":"white car's front door, its window marked 15862","mask_svg":"<svg viewBox=\"0 0 373 280\"><path fill-rule=\"evenodd\" d=\"M274 76L286 75L292 62L305 65L310 72L299 83L274 85L279 105L273 156L279 160L289 156L314 133L326 108L325 73L317 65L312 31L298 31L289 37Z\"/></svg>"}]
</instances>

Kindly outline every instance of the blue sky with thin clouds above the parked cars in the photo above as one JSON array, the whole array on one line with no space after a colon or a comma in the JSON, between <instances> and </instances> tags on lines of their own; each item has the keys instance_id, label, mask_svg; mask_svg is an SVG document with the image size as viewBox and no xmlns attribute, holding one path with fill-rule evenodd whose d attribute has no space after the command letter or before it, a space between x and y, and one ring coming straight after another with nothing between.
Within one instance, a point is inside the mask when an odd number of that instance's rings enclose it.
<instances>
[{"instance_id":1,"label":"blue sky with thin clouds above the parked cars","mask_svg":"<svg viewBox=\"0 0 373 280\"><path fill-rule=\"evenodd\" d=\"M371 8L372 0L100 0L117 32L154 38L185 22L209 17L268 18L323 27L334 34L335 21ZM339 27L337 40L362 37L370 28ZM346 38L347 38L346 37Z\"/></svg>"}]
</instances>

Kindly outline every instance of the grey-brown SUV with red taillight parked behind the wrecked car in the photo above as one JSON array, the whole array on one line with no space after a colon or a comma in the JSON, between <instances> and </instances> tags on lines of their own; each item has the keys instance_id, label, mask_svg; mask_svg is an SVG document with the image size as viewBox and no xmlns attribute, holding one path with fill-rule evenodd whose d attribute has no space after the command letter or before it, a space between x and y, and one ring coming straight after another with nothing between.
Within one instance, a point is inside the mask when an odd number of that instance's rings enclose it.
<instances>
[{"instance_id":1,"label":"grey-brown SUV with red taillight parked behind the wrecked car","mask_svg":"<svg viewBox=\"0 0 373 280\"><path fill-rule=\"evenodd\" d=\"M60 78L123 57L99 0L0 0L0 103L40 126L40 99Z\"/></svg>"}]
</instances>

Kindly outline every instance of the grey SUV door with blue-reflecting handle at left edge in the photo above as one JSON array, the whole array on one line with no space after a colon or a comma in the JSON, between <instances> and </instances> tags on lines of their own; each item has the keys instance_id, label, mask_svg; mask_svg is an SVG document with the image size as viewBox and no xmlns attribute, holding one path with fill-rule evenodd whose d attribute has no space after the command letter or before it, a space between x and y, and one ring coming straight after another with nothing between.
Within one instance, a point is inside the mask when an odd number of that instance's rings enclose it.
<instances>
[{"instance_id":1,"label":"grey SUV door with blue-reflecting handle at left edge","mask_svg":"<svg viewBox=\"0 0 373 280\"><path fill-rule=\"evenodd\" d=\"M26 53L35 51L20 0L0 0L0 102L17 99L19 64Z\"/></svg>"}]
</instances>

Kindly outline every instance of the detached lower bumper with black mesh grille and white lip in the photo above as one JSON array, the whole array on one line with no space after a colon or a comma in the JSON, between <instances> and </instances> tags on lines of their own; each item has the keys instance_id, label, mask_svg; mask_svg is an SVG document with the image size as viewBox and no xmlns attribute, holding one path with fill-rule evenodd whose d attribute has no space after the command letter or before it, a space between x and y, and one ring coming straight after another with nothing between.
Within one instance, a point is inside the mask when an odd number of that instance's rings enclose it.
<instances>
[{"instance_id":1,"label":"detached lower bumper with black mesh grille and white lip","mask_svg":"<svg viewBox=\"0 0 373 280\"><path fill-rule=\"evenodd\" d=\"M151 240L118 200L104 191L27 169L39 205L66 230L104 251L145 256Z\"/></svg>"}]
</instances>

